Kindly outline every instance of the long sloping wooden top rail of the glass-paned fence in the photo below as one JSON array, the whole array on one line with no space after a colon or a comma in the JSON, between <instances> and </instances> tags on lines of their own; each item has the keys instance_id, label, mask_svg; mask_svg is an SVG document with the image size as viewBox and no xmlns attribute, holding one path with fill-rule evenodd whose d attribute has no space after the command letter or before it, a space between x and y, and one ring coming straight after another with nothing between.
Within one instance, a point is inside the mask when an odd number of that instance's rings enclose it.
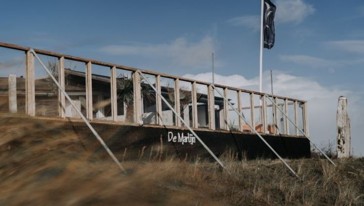
<instances>
[{"instance_id":1,"label":"long sloping wooden top rail of the glass-paned fence","mask_svg":"<svg viewBox=\"0 0 364 206\"><path fill-rule=\"evenodd\" d=\"M29 47L19 46L19 45L15 45L15 44L8 44L8 43L4 43L4 42L0 42L0 47L19 49L19 50L24 50L25 52L30 49ZM34 51L36 53L42 54L42 55L49 55L49 56L58 57L58 58L64 57L65 59L68 59L68 60L74 60L74 61L79 61L79 62L84 62L84 63L91 62L92 64L97 64L97 65L106 66L106 67L114 67L115 66L116 68L124 69L124 70L128 70L128 71L133 71L133 72L138 70L138 68L134 68L134 67L128 67L128 66L124 66L124 65L106 63L106 62L96 61L96 60L87 59L87 58L74 57L74 56L64 55L64 54L55 53L55 52L49 52L47 50L34 49ZM173 78L173 79L178 78L181 81L196 82L198 84L204 84L204 85L209 85L210 84L209 82L204 82L204 81L199 81L199 80L194 80L194 79L189 79L189 78L184 78L184 77L178 77L178 76L164 74L164 73L160 73L160 72L154 72L154 71L143 70L143 69L139 69L139 70L141 72L145 73L145 74L160 75L161 77L167 77L167 78ZM231 87L231 86L225 86L225 85L220 85L220 84L215 84L215 86L217 86L217 87L227 87L227 88L232 89L232 90L243 91L243 92L247 92L247 93L254 92L254 93L260 94L260 95L265 94L265 93L258 92L258 91L251 91L251 90L246 90L246 89L241 89L241 88ZM277 95L274 95L274 97L278 97L278 98L282 98L282 99L288 99L288 100L292 100L292 101L306 102L306 101L300 100L300 99L277 96Z\"/></svg>"}]
</instances>

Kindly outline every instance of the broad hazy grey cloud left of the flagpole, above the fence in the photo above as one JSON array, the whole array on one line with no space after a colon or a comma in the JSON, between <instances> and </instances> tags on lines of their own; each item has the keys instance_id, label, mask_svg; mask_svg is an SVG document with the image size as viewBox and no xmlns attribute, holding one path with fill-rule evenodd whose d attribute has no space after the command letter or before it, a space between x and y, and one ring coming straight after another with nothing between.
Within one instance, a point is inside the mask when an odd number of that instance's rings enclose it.
<instances>
[{"instance_id":1,"label":"broad hazy grey cloud left of the flagpole, above the fence","mask_svg":"<svg viewBox=\"0 0 364 206\"><path fill-rule=\"evenodd\" d=\"M188 42L186 38L177 38L164 44L109 45L100 49L109 55L134 55L145 58L164 58L178 66L205 67L211 65L211 53L216 46L210 36L198 42Z\"/></svg>"}]
</instances>

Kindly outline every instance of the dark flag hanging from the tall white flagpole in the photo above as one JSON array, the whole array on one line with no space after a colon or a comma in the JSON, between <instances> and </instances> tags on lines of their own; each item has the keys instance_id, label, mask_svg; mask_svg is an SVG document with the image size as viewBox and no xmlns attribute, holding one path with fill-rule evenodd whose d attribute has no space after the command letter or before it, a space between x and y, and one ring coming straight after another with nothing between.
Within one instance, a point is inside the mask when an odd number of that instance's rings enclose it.
<instances>
[{"instance_id":1,"label":"dark flag hanging from the tall white flagpole","mask_svg":"<svg viewBox=\"0 0 364 206\"><path fill-rule=\"evenodd\" d=\"M270 49L275 43L274 16L276 6L270 0L264 0L263 12L264 48Z\"/></svg>"}]
</instances>

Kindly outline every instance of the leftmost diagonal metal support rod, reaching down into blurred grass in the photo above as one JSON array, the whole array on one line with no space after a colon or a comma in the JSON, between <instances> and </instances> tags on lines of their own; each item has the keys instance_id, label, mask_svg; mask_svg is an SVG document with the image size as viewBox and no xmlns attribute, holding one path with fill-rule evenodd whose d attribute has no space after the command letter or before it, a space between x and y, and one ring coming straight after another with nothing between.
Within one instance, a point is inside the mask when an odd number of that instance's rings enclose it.
<instances>
[{"instance_id":1,"label":"leftmost diagonal metal support rod, reaching down into blurred grass","mask_svg":"<svg viewBox=\"0 0 364 206\"><path fill-rule=\"evenodd\" d=\"M38 57L38 55L34 52L34 49L30 49L30 52L33 53L33 55L35 56L35 58L39 61L40 65L44 68L44 70L48 73L48 75L52 78L52 80L56 83L56 85L58 86L58 88L61 90L61 92L65 95L65 97L67 98L67 100L70 102L70 104L72 105L72 107L76 110L77 114L81 117L81 119L86 123L86 125L88 126L88 128L92 131L92 133L96 136L96 138L99 140L99 142L103 145L103 147L105 148L105 150L109 153L110 157L114 160L114 162L119 166L119 168L126 174L126 170L121 166L120 162L116 159L116 157L114 156L113 152L109 149L109 147L105 144L104 140L100 137L100 135L95 131L94 127L90 125L90 123L87 121L87 119L83 116L83 114L81 113L81 111L78 110L78 108L74 105L72 99L68 96L68 94L66 93L66 91L64 90L63 87L61 87L61 85L59 84L59 82L56 80L56 78L51 74L51 72L48 70L47 67L45 67L45 65L43 64L43 62L40 60L40 58Z\"/></svg>"}]
</instances>

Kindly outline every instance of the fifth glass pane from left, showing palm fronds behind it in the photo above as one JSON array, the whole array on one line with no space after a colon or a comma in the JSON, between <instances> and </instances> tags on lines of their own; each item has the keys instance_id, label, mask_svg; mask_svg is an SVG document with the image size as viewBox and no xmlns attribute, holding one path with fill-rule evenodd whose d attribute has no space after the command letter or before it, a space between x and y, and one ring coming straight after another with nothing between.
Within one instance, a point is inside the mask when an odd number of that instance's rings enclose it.
<instances>
[{"instance_id":1,"label":"fifth glass pane from left, showing palm fronds behind it","mask_svg":"<svg viewBox=\"0 0 364 206\"><path fill-rule=\"evenodd\" d=\"M117 121L134 122L134 82L132 72L116 69Z\"/></svg>"}]
</instances>

